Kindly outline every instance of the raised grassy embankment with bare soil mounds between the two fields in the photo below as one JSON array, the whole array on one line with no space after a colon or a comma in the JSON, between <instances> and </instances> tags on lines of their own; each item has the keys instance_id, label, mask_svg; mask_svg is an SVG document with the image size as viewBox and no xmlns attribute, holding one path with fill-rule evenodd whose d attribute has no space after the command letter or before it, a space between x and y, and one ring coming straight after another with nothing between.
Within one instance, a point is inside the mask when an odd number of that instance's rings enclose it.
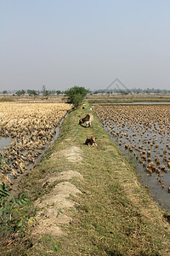
<instances>
[{"instance_id":1,"label":"raised grassy embankment with bare soil mounds between the two fields","mask_svg":"<svg viewBox=\"0 0 170 256\"><path fill-rule=\"evenodd\" d=\"M8 222L0 225L2 256L169 255L170 215L152 201L96 115L90 128L78 125L90 111L88 103L71 111L42 161L20 175L18 192L35 210L23 214L23 207L13 203L21 214L11 218L8 205L3 207ZM91 136L97 145L89 148L84 143ZM23 215L26 222L16 232ZM11 220L14 232L7 236ZM25 236L19 236L24 228Z\"/></svg>"}]
</instances>

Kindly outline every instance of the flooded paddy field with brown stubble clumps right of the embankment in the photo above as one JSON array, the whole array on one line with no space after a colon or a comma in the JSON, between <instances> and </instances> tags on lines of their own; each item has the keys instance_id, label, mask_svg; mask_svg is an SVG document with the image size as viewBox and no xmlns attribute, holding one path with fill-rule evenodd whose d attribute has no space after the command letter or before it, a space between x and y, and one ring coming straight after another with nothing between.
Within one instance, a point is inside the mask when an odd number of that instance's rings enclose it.
<instances>
[{"instance_id":1,"label":"flooded paddy field with brown stubble clumps right of the embankment","mask_svg":"<svg viewBox=\"0 0 170 256\"><path fill-rule=\"evenodd\" d=\"M153 199L170 212L170 105L93 108Z\"/></svg>"}]
</instances>

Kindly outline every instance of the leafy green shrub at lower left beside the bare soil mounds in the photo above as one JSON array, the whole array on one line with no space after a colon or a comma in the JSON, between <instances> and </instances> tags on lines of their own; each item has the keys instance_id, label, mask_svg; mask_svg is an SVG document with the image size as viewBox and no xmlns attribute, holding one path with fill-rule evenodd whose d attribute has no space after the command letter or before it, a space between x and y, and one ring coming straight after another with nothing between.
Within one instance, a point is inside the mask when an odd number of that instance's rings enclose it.
<instances>
[{"instance_id":1,"label":"leafy green shrub at lower left beside the bare soil mounds","mask_svg":"<svg viewBox=\"0 0 170 256\"><path fill-rule=\"evenodd\" d=\"M26 195L13 196L5 184L0 184L0 232L7 236L26 236L36 219L33 202Z\"/></svg>"}]
</instances>

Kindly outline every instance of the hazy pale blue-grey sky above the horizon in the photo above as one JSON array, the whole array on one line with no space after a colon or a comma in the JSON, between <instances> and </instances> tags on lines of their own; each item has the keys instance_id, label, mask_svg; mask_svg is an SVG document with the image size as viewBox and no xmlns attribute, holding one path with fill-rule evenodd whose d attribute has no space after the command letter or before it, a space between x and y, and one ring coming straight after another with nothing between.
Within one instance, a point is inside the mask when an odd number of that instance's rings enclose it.
<instances>
[{"instance_id":1,"label":"hazy pale blue-grey sky above the horizon","mask_svg":"<svg viewBox=\"0 0 170 256\"><path fill-rule=\"evenodd\" d=\"M169 0L0 0L0 35L0 90L170 90Z\"/></svg>"}]
</instances>

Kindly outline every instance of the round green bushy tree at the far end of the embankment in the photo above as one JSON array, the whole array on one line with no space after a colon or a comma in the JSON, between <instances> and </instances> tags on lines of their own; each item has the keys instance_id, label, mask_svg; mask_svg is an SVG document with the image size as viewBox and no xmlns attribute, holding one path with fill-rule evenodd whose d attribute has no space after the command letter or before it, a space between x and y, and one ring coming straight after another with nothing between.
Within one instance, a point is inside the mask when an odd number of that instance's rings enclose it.
<instances>
[{"instance_id":1,"label":"round green bushy tree at the far end of the embankment","mask_svg":"<svg viewBox=\"0 0 170 256\"><path fill-rule=\"evenodd\" d=\"M68 97L68 102L72 103L75 108L82 104L82 101L87 94L88 90L79 86L74 86L69 90L65 90L65 96Z\"/></svg>"}]
</instances>

